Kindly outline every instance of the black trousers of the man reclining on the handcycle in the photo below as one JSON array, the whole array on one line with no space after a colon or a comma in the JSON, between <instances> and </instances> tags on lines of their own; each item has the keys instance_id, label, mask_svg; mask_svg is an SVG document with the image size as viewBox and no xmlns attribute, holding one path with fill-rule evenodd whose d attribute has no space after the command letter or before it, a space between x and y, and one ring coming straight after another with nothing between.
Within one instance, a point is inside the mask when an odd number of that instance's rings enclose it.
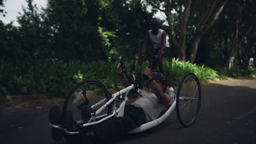
<instances>
[{"instance_id":1,"label":"black trousers of the man reclining on the handcycle","mask_svg":"<svg viewBox=\"0 0 256 144\"><path fill-rule=\"evenodd\" d=\"M140 107L126 105L124 117L110 118L94 127L97 138L106 139L120 136L146 123L146 115Z\"/></svg>"}]
</instances>

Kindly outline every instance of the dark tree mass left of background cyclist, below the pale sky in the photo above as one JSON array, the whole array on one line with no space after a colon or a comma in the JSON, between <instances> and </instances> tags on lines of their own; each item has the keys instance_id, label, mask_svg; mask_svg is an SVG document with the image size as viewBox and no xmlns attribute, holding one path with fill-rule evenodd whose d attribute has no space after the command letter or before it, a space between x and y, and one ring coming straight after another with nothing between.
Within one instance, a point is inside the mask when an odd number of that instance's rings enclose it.
<instances>
[{"instance_id":1,"label":"dark tree mass left of background cyclist, below the pale sky","mask_svg":"<svg viewBox=\"0 0 256 144\"><path fill-rule=\"evenodd\" d=\"M7 35L1 39L0 55L14 62L49 58L89 62L111 60L120 53L134 57L153 16L138 0L49 0L44 9L33 0L26 2L19 27L1 24Z\"/></svg>"}]
</instances>

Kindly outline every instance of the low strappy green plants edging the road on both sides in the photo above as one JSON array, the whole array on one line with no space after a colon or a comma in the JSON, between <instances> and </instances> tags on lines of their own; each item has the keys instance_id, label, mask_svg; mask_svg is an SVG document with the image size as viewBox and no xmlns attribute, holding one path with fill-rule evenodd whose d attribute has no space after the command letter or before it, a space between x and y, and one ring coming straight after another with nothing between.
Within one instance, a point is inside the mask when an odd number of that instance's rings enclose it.
<instances>
[{"instance_id":1,"label":"low strappy green plants edging the road on both sides","mask_svg":"<svg viewBox=\"0 0 256 144\"><path fill-rule=\"evenodd\" d=\"M130 65L136 61L126 60L126 71L131 75ZM209 79L223 77L237 77L255 75L256 69L217 69L213 70L205 65L181 62L178 59L164 58L164 67L170 69L172 82L178 85L182 77L187 73L195 73L201 82ZM48 93L53 96L65 97L65 95L77 83L95 79L107 87L122 88L115 69L118 62L63 62L60 60L46 60L25 62L18 65L0 61L0 98L10 94L38 94ZM147 63L142 67L146 67ZM136 63L136 74L140 67Z\"/></svg>"}]
</instances>

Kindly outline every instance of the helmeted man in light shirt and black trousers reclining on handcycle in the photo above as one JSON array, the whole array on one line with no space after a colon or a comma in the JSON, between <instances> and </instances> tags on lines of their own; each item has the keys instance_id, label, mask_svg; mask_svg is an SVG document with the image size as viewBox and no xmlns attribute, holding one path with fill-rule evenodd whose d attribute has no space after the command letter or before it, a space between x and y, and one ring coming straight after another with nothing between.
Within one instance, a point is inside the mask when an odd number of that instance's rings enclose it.
<instances>
[{"instance_id":1,"label":"helmeted man in light shirt and black trousers reclining on handcycle","mask_svg":"<svg viewBox=\"0 0 256 144\"><path fill-rule=\"evenodd\" d=\"M118 67L116 73L120 76L120 79L125 87L130 86L124 70ZM139 92L141 97L138 97L130 105L125 105L124 116L107 119L106 121L92 125L89 128L83 130L84 133L78 136L69 136L67 142L78 142L81 137L96 137L99 139L106 139L109 137L123 135L132 129L139 127L140 125L153 121L158 118L160 113L164 111L167 105L170 103L170 96L165 93L167 78L164 74L154 71L150 73L149 68L144 68L141 72L143 75L148 77L152 92L141 91ZM51 107L49 112L50 123L59 121L60 119L60 107L54 105ZM61 120L60 120L61 121ZM67 111L65 115L64 126L68 131L77 131L78 127L73 120L73 113ZM61 140L64 133L61 130L53 128L52 136L53 139L58 141ZM82 138L83 139L83 138Z\"/></svg>"}]
</instances>

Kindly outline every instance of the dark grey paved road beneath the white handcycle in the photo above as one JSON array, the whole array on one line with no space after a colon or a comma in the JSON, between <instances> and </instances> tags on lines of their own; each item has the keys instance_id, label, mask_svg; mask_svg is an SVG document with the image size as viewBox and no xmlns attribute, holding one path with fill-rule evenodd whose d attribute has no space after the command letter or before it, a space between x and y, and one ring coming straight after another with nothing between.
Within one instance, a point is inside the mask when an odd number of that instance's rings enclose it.
<instances>
[{"instance_id":1,"label":"dark grey paved road beneath the white handcycle","mask_svg":"<svg viewBox=\"0 0 256 144\"><path fill-rule=\"evenodd\" d=\"M176 112L173 112L158 127L140 134L125 135L108 143L255 144L255 103L256 79L203 85L200 115L191 127L183 128ZM51 140L48 126L49 107L21 105L2 108L0 143L55 143ZM65 140L60 143L65 143Z\"/></svg>"}]
</instances>

